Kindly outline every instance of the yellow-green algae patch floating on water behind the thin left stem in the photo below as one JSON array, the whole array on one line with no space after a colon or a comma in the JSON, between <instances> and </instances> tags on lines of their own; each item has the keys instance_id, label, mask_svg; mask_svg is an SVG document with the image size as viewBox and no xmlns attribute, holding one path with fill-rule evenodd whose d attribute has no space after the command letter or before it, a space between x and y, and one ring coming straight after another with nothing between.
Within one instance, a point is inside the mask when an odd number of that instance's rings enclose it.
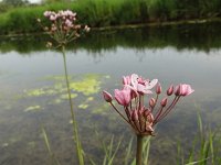
<instances>
[{"instance_id":1,"label":"yellow-green algae patch floating on water behind the thin left stem","mask_svg":"<svg viewBox=\"0 0 221 165\"><path fill-rule=\"evenodd\" d=\"M97 74L87 74L83 76L69 76L71 98L75 99L81 95L84 100L78 102L78 109L87 109L93 105L94 97L93 95L99 92L102 80L110 78L108 75L97 75ZM53 81L52 85L44 86L36 89L24 90L27 98L42 98L42 97L52 97L51 101L48 105L59 105L69 99L66 82L64 76L50 76L43 80ZM85 98L86 97L86 98ZM36 111L43 109L38 106L28 107L24 111Z\"/></svg>"}]
</instances>

